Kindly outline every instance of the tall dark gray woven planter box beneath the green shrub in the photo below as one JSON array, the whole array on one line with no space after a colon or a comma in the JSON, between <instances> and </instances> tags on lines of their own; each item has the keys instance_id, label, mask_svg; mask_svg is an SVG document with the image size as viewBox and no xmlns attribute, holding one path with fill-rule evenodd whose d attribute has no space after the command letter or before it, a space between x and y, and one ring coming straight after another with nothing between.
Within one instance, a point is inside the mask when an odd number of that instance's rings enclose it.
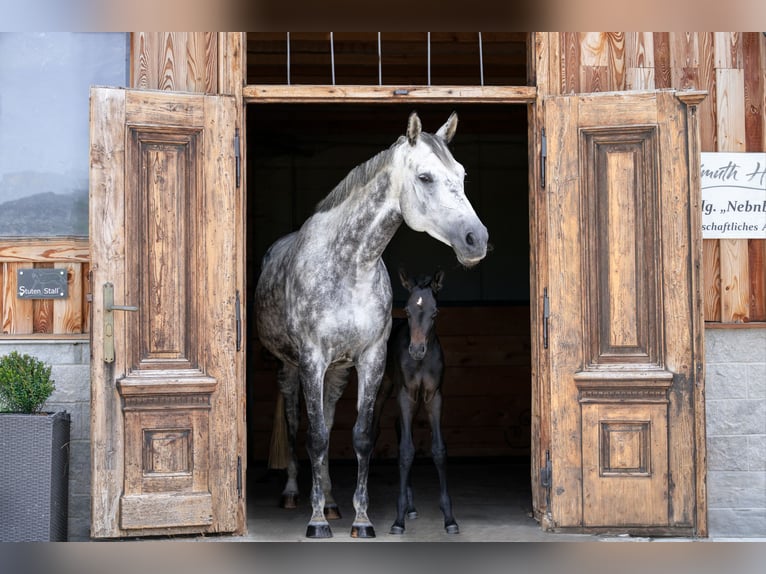
<instances>
[{"instance_id":1,"label":"tall dark gray woven planter box beneath the green shrub","mask_svg":"<svg viewBox=\"0 0 766 574\"><path fill-rule=\"evenodd\" d=\"M69 413L0 413L0 542L65 541Z\"/></svg>"}]
</instances>

